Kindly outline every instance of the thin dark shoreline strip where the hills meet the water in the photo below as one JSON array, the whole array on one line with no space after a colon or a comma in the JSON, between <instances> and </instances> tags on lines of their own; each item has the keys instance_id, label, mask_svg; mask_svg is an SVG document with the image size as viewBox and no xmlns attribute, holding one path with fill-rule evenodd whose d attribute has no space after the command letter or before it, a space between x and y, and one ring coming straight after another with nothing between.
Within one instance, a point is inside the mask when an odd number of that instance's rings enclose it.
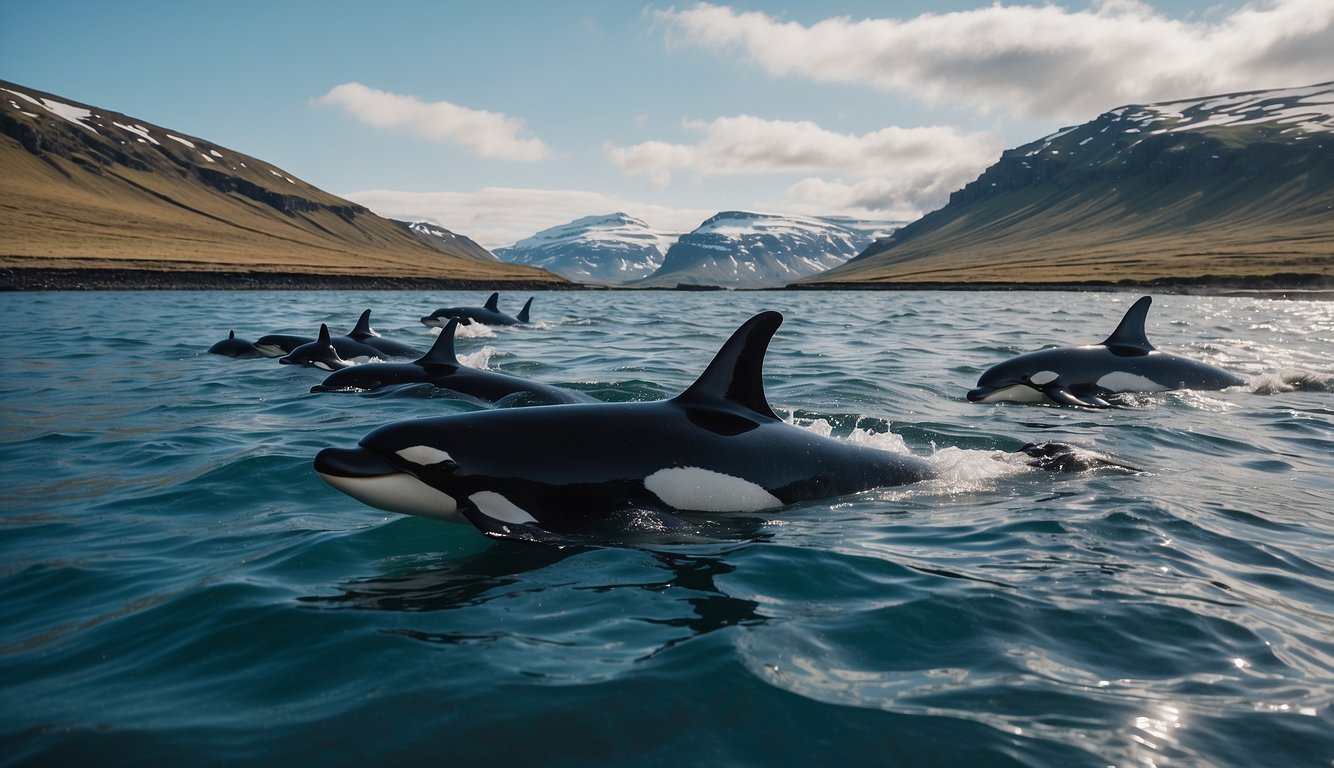
<instances>
[{"instance_id":1,"label":"thin dark shoreline strip where the hills meet the water","mask_svg":"<svg viewBox=\"0 0 1334 768\"><path fill-rule=\"evenodd\" d=\"M180 269L0 268L3 291L592 291L604 287L540 280L378 277L297 272L205 272ZM655 288L662 291L663 288ZM671 291L672 288L668 288ZM675 289L704 289L680 285ZM1269 296L1334 300L1329 275L1205 276L1158 280L1066 283L823 283L792 291L1149 291L1207 296Z\"/></svg>"}]
</instances>

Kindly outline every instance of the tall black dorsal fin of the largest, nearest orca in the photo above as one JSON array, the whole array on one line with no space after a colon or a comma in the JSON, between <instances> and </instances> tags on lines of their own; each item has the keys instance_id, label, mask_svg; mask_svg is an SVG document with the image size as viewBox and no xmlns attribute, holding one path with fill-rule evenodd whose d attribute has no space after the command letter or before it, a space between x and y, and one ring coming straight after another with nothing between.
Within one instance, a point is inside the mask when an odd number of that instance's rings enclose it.
<instances>
[{"instance_id":1,"label":"tall black dorsal fin of the largest, nearest orca","mask_svg":"<svg viewBox=\"0 0 1334 768\"><path fill-rule=\"evenodd\" d=\"M732 333L704 368L676 400L735 403L755 413L778 419L764 399L764 352L774 337L783 316L778 312L760 312L747 320Z\"/></svg>"}]
</instances>

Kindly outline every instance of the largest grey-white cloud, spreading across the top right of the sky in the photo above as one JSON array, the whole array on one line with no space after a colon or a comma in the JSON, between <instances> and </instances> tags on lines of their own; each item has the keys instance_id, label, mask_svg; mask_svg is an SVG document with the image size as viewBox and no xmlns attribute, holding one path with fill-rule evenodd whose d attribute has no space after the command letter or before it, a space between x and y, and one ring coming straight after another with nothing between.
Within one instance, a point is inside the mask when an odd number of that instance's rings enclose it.
<instances>
[{"instance_id":1,"label":"largest grey-white cloud, spreading across the top right of the sky","mask_svg":"<svg viewBox=\"0 0 1334 768\"><path fill-rule=\"evenodd\" d=\"M1215 20L1137 0L1089 9L988 5L811 25L700 3L656 16L668 40L775 76L862 84L932 104L1089 119L1122 104L1306 85L1334 72L1334 3L1270 0Z\"/></svg>"}]
</instances>

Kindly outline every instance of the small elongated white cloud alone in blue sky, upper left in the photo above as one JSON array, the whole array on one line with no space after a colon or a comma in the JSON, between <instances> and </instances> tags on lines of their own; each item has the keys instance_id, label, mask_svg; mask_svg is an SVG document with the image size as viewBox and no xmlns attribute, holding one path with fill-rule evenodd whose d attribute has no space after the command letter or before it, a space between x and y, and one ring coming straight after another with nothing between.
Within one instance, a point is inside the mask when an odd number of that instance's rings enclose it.
<instances>
[{"instance_id":1,"label":"small elongated white cloud alone in blue sky, upper left","mask_svg":"<svg viewBox=\"0 0 1334 768\"><path fill-rule=\"evenodd\" d=\"M376 128L402 128L420 139L451 141L482 157L532 161L551 155L540 139L522 136L523 120L499 112L470 109L450 101L422 101L360 83L335 85L315 103L342 107Z\"/></svg>"}]
</instances>

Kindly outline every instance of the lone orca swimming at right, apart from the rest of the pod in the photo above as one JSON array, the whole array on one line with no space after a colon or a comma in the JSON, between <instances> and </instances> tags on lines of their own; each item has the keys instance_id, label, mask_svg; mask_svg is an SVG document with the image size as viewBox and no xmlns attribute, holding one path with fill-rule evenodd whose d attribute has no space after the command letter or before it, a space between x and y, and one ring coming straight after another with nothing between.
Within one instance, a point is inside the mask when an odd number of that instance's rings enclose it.
<instances>
[{"instance_id":1,"label":"lone orca swimming at right, apart from the rest of the pod","mask_svg":"<svg viewBox=\"0 0 1334 768\"><path fill-rule=\"evenodd\" d=\"M1226 389L1246 383L1231 371L1154 349L1145 335L1151 301L1149 296L1135 301L1102 344L1039 349L992 365L968 400L1106 408L1107 397L1126 392Z\"/></svg>"}]
</instances>

